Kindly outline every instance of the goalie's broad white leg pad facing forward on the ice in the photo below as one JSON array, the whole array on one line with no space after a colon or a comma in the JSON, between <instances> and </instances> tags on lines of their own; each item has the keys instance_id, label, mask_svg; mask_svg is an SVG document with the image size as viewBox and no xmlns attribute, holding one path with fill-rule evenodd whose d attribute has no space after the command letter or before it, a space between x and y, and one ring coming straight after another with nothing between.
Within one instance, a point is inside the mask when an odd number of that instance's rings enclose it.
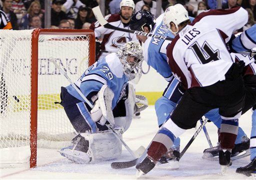
<instances>
[{"instance_id":1,"label":"goalie's broad white leg pad facing forward on the ice","mask_svg":"<svg viewBox=\"0 0 256 180\"><path fill-rule=\"evenodd\" d=\"M122 138L123 129L115 129ZM95 133L81 133L89 141L87 154L92 160L109 160L121 154L122 144L110 130L98 131Z\"/></svg>"}]
</instances>

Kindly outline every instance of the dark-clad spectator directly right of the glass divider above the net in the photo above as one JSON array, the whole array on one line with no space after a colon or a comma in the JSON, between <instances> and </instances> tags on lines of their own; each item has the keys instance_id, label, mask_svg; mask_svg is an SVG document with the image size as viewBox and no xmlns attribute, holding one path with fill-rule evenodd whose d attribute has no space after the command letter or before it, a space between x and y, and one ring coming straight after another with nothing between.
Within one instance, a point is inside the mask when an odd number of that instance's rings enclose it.
<instances>
[{"instance_id":1,"label":"dark-clad spectator directly right of the glass divider above the net","mask_svg":"<svg viewBox=\"0 0 256 180\"><path fill-rule=\"evenodd\" d=\"M50 25L52 28L56 28L59 25L60 20L67 19L67 15L65 14L65 12L61 10L62 4L63 0L52 0L50 15Z\"/></svg>"}]
</instances>

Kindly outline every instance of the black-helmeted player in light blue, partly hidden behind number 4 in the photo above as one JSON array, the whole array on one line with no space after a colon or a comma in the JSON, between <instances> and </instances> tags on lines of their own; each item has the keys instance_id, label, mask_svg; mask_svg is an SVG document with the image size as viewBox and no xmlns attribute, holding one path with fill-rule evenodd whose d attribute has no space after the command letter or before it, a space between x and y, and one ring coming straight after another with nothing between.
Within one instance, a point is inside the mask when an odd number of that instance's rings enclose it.
<instances>
[{"instance_id":1,"label":"black-helmeted player in light blue, partly hidden behind number 4","mask_svg":"<svg viewBox=\"0 0 256 180\"><path fill-rule=\"evenodd\" d=\"M161 14L155 21L150 12L145 10L140 10L132 15L130 20L130 28L132 30L144 31L146 33L153 33L159 35L165 35L168 37L174 37L162 22L163 14ZM189 17L190 21L194 18ZM158 126L160 127L166 117L175 108L176 103L182 95L182 88L180 88L180 83L175 79L171 73L171 69L167 63L166 57L166 47L170 43L169 40L163 40L159 38L146 37L142 35L137 35L143 45L143 55L144 60L148 65L153 67L159 74L161 74L165 80L169 81L169 84L165 88L162 96L156 100L155 112L157 116ZM220 128L221 117L218 114L218 109L212 109L206 114L205 117L210 119L218 128ZM245 145L244 145L245 144ZM168 162L170 168L178 168L179 160L179 146L180 139L177 137L171 149L164 155L160 162ZM242 146L242 147L241 147ZM249 139L244 133L244 131L239 127L237 138L235 140L235 147L232 149L232 155L236 154L237 151L241 151L249 148ZM216 148L215 148L216 149ZM212 150L211 150L212 151ZM217 151L217 152L215 152ZM170 156L171 154L171 156ZM214 156L218 154L218 149L214 150ZM212 156L212 154L210 154Z\"/></svg>"}]
</instances>

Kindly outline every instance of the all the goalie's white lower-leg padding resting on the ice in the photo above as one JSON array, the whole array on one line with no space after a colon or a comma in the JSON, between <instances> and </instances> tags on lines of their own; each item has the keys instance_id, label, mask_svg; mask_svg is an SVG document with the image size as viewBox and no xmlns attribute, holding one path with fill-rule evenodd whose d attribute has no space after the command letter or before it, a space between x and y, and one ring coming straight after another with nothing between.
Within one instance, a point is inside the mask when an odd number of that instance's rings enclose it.
<instances>
[{"instance_id":1,"label":"all the goalie's white lower-leg padding resting on the ice","mask_svg":"<svg viewBox=\"0 0 256 180\"><path fill-rule=\"evenodd\" d=\"M123 129L115 128L116 133L122 138ZM72 145L59 150L60 154L75 163L88 163L91 160L109 160L121 154L122 144L110 130L98 132L85 132L77 136L88 141L83 148L80 139L72 140ZM77 137L76 136L76 137ZM74 137L74 139L76 138ZM77 146L79 146L77 148ZM83 150L83 151L81 151Z\"/></svg>"}]
</instances>

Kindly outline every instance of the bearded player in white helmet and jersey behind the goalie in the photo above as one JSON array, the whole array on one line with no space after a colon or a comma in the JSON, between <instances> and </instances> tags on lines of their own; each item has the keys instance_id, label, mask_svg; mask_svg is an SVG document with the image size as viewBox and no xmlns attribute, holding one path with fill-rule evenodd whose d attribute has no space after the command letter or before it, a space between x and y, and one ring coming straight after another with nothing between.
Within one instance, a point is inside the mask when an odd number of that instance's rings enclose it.
<instances>
[{"instance_id":1,"label":"bearded player in white helmet and jersey behind the goalie","mask_svg":"<svg viewBox=\"0 0 256 180\"><path fill-rule=\"evenodd\" d=\"M119 14L108 14L105 19L109 24L129 29L129 21L134 10L135 4L133 0L122 0L120 2L120 13ZM137 41L136 35L128 32L121 32L119 30L107 29L100 26L99 22L96 21L90 25L90 29L94 30L95 37L103 35L102 42L100 44L100 53L97 54L97 58L102 58L108 53L116 52L117 47L123 45L128 41Z\"/></svg>"}]
</instances>

